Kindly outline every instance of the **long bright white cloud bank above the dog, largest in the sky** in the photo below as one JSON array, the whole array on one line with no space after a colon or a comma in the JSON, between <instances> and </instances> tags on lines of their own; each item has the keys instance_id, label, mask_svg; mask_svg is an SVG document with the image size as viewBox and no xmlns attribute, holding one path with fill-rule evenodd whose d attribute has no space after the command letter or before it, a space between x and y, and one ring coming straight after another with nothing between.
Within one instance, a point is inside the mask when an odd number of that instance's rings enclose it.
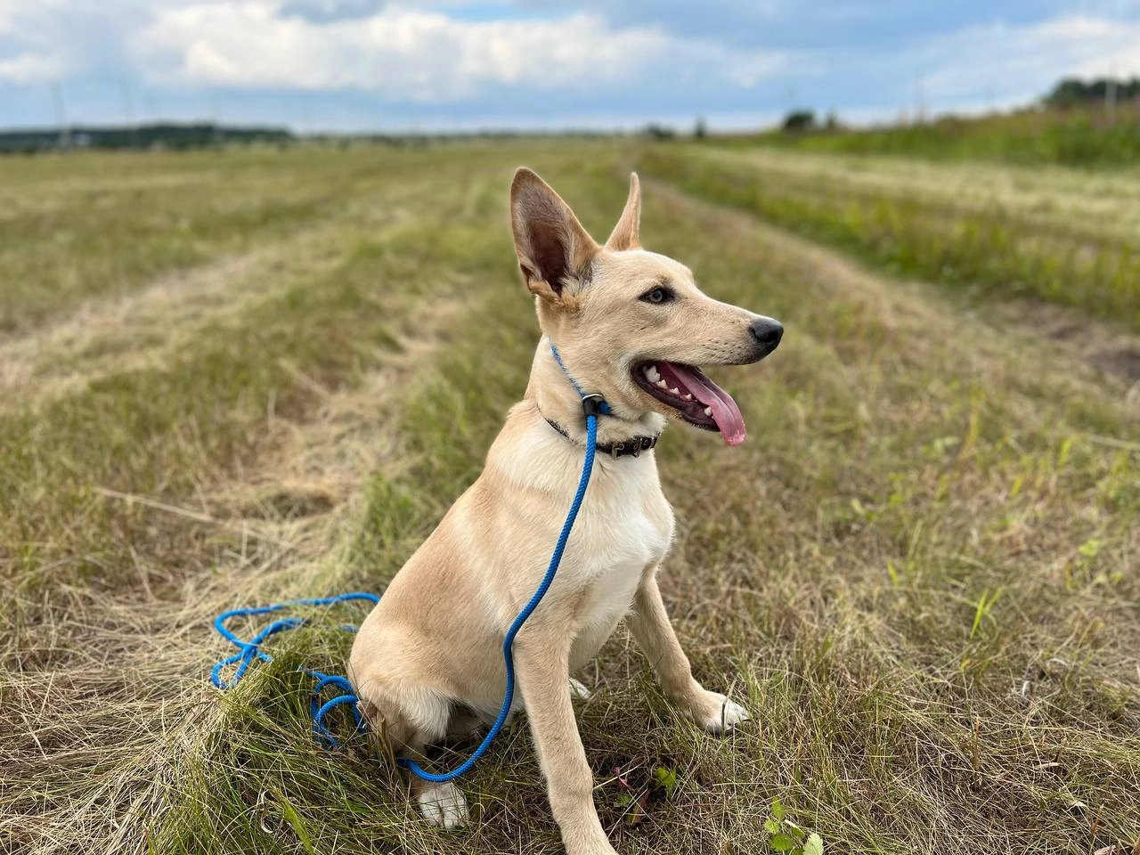
<instances>
[{"instance_id":1,"label":"long bright white cloud bank above the dog, largest in the sky","mask_svg":"<svg viewBox=\"0 0 1140 855\"><path fill-rule=\"evenodd\" d=\"M312 19L276 0L160 10L131 42L142 67L170 81L266 89L363 89L409 100L455 100L495 87L629 85L653 70L694 71L750 87L779 57L670 36L659 26L611 28L595 15L465 21L392 7Z\"/></svg>"}]
</instances>

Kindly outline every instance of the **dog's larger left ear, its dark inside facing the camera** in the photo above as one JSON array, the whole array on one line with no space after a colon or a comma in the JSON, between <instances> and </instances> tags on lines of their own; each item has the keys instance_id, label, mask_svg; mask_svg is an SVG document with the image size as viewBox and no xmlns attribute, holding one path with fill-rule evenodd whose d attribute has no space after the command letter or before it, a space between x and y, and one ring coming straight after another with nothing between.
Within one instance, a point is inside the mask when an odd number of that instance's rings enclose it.
<instances>
[{"instance_id":1,"label":"dog's larger left ear, its dark inside facing the camera","mask_svg":"<svg viewBox=\"0 0 1140 855\"><path fill-rule=\"evenodd\" d=\"M559 194L526 168L511 182L511 229L527 287L547 300L561 300L569 279L587 275L600 249Z\"/></svg>"}]
</instances>

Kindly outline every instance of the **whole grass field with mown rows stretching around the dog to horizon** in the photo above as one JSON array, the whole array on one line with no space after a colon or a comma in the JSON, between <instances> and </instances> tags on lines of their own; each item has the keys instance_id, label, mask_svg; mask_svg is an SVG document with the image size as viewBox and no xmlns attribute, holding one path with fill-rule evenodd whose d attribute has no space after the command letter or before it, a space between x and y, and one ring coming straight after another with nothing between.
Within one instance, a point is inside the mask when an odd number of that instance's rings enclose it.
<instances>
[{"instance_id":1,"label":"whole grass field with mown rows stretching around the dog to horizon","mask_svg":"<svg viewBox=\"0 0 1140 855\"><path fill-rule=\"evenodd\" d=\"M618 850L767 852L773 799L834 853L1140 846L1140 178L518 140L0 160L0 850L560 852L522 724L449 832L314 742L359 610L206 681L219 611L381 593L479 472L519 163L598 236L636 166L645 244L787 328L717 373L743 447L659 453L662 592L752 723L625 630L578 675Z\"/></svg>"}]
</instances>

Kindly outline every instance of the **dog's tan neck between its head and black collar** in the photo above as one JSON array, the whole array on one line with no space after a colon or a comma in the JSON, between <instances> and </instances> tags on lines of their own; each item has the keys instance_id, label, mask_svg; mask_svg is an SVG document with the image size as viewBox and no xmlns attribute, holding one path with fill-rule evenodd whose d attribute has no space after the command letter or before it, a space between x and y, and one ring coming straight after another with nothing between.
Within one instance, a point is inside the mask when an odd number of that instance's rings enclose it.
<instances>
[{"instance_id":1,"label":"dog's tan neck between its head and black collar","mask_svg":"<svg viewBox=\"0 0 1140 855\"><path fill-rule=\"evenodd\" d=\"M573 366L567 365L565 372L559 366L551 350L551 342L545 336L538 343L535 361L530 369L530 382L527 384L527 400L534 402L540 418L554 422L565 431L565 439L578 445L586 445L586 416L581 407L581 397L575 389L570 377L580 384L583 392L605 394L602 388L593 388L588 377L573 375ZM568 374L570 376L568 376ZM610 404L614 409L613 404ZM665 430L665 417L644 410L641 413L616 412L597 418L598 446L612 446L627 442L635 437L657 437ZM555 429L551 429L552 433Z\"/></svg>"}]
</instances>

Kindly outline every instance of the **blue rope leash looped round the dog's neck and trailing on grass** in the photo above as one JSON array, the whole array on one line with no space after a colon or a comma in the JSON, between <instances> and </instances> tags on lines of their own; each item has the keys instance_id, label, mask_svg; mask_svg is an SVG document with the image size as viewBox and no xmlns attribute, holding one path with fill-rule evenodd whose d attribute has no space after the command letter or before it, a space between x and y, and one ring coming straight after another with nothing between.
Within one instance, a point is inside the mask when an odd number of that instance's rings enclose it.
<instances>
[{"instance_id":1,"label":"blue rope leash looped round the dog's neck and trailing on grass","mask_svg":"<svg viewBox=\"0 0 1140 855\"><path fill-rule=\"evenodd\" d=\"M567 370L565 365L562 363L562 356L559 353L557 348L554 347L554 342L551 342L551 352L554 355L554 361L559 364L559 368L562 369L562 373L565 374L567 378L573 385L575 391L578 392L578 397L583 401L583 409L586 413L586 458L583 462L581 477L578 479L578 490L575 492L573 502L570 504L570 512L567 514L565 522L562 524L562 531L559 534L557 543L554 546L554 553L551 555L551 563L546 568L546 575L543 576L543 580L539 583L534 596L530 597L530 602L522 608L522 611L520 611L518 617L515 617L511 627L506 632L506 636L503 638L503 662L506 665L506 691L503 694L503 706L499 708L495 723L487 732L483 741L480 742L475 750L471 752L471 756L450 772L435 774L421 768L415 760L410 760L408 758L400 758L398 760L400 766L409 769L425 781L443 783L446 781L454 781L461 775L466 774L471 771L471 767L475 765L479 758L487 752L491 742L495 741L499 731L503 730L506 717L511 712L511 705L514 701L514 637L519 634L519 630L522 629L522 625L527 622L527 619L530 618L535 609L538 608L538 604L542 602L543 597L546 596L547 589L549 589L551 584L554 581L554 575L559 570L559 564L562 563L562 553L565 552L567 542L570 539L570 531L573 529L575 520L578 518L578 510L581 507L583 499L586 496L586 488L589 486L589 477L594 470L594 451L597 447L597 414L601 413L609 415L610 407L602 396L596 393L589 394L585 392L580 385L578 385L578 382L573 378L570 372ZM238 617L269 614L271 612L278 612L298 605L333 605L334 603L341 603L349 600L367 600L374 605L380 602L380 597L375 594L352 593L312 600L292 600L287 603L277 603L275 605L262 605L250 609L231 609L227 612L222 612L214 620L214 629L217 629L222 637L233 643L238 649L238 652L217 662L213 670L210 673L210 681L218 689L231 689L239 679L242 679L243 676L245 676L246 669L249 669L254 659L260 659L263 662L272 661L272 658L261 650L261 644L267 638L286 629L295 629L296 627L303 626L308 622L301 618L284 618L282 620L275 620L246 642L242 641L237 637L237 635L229 630L226 626L228 620ZM342 626L341 628L356 632L356 627L352 626ZM221 671L230 665L237 665L237 669L234 671L234 676L227 682L222 679ZM364 719L357 708L358 698L352 691L352 684L349 683L348 677L342 677L340 675L321 674L320 671L310 669L306 669L306 674L317 679L312 690L312 695L309 699L309 710L312 714L312 732L327 746L339 748L340 743L325 725L325 717L331 710L339 706L351 703L352 716L356 719L357 730L364 730ZM329 686L341 690L341 694L321 702L323 693Z\"/></svg>"}]
</instances>

